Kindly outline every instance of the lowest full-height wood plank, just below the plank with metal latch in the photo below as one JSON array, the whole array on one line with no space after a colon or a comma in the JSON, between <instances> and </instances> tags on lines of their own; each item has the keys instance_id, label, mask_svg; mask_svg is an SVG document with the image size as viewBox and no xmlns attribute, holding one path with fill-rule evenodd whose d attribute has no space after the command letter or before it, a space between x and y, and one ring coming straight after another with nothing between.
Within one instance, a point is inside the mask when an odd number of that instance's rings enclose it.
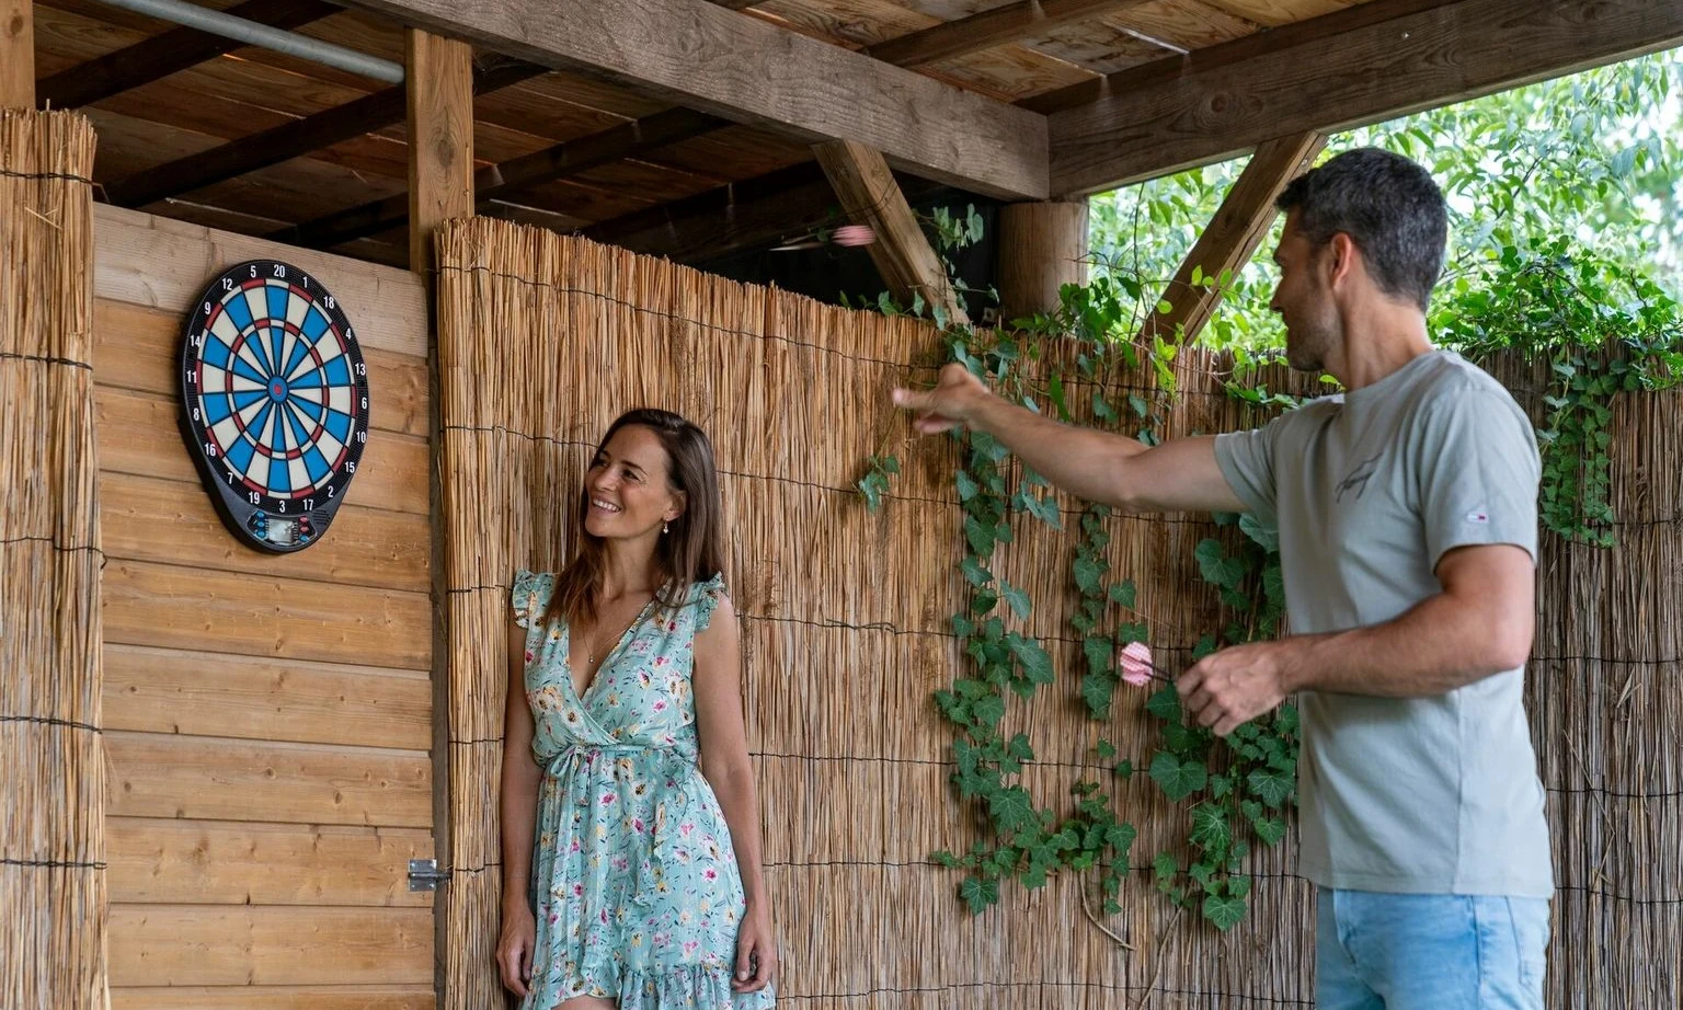
<instances>
[{"instance_id":1,"label":"lowest full-height wood plank, just below the plank with metal latch","mask_svg":"<svg viewBox=\"0 0 1683 1010\"><path fill-rule=\"evenodd\" d=\"M429 909L111 906L113 986L417 985Z\"/></svg>"}]
</instances>

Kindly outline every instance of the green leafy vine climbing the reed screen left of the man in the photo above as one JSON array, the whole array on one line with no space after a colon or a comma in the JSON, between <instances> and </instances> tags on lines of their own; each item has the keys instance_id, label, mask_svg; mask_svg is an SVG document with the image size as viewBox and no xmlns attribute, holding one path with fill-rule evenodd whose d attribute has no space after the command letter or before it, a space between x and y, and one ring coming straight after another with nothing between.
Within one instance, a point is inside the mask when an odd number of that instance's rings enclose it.
<instances>
[{"instance_id":1,"label":"green leafy vine climbing the reed screen left of the man","mask_svg":"<svg viewBox=\"0 0 1683 1010\"><path fill-rule=\"evenodd\" d=\"M936 244L948 249L980 237L974 214L963 231L936 222ZM963 288L954 281L956 288ZM1126 364L1133 370L1148 369L1155 387L1141 387L1112 404L1094 392L1094 419L1107 428L1156 443L1161 416L1153 409L1175 396L1173 360L1180 347L1158 337L1136 345L1123 333L1138 325L1131 310L1139 281L1104 274L1087 286L1067 286L1059 311L1023 320L1015 332L976 332L963 325L942 327L949 359L993 385L1001 396L1038 409L1050 404L1069 419L1067 391L1074 379L1084 385L1101 385L1107 369ZM877 308L895 311L887 298ZM924 306L914 305L916 311ZM1037 357L1045 340L1065 338L1080 345L1075 357L1077 375L1069 380L1052 372L1043 387L1032 387L1023 370L1025 357ZM1267 406L1277 406L1271 397ZM1121 882L1133 872L1129 852L1138 835L1133 823L1118 813L1114 786L1134 773L1133 758L1119 758L1116 746L1099 737L1092 747L1094 769L1106 774L1086 776L1072 786L1072 810L1040 806L1020 784L1025 764L1035 754L1027 732L1010 739L1000 731L1010 695L1032 699L1055 680L1052 658L1042 641L1022 631L1006 630L1005 614L1025 621L1033 601L993 571L998 549L1013 540L1013 515L1030 515L1062 530L1062 515L1045 480L1022 471L1011 480L1010 453L983 433L958 436L963 465L953 483L964 512L964 550L959 561L969 587L964 609L953 614L951 630L966 656L966 667L954 682L934 695L942 717L953 724L954 771L951 781L963 801L973 801L991 838L980 840L963 855L932 853L937 864L968 870L959 884L959 897L973 912L981 912L1000 899L1000 880L1017 879L1027 889L1038 889L1059 870L1096 877L1099 907L1106 914L1121 911ZM867 461L858 481L867 507L882 507L890 476L899 473L899 460L879 453ZM1074 530L1070 579L1080 606L1070 628L1082 643L1086 670L1080 699L1089 715L1111 722L1112 700L1121 675L1118 653L1149 638L1138 621L1136 587L1129 579L1112 579L1106 559L1109 510L1089 505ZM1227 525L1239 522L1225 517ZM1229 554L1220 540L1198 544L1200 569L1220 587L1224 604L1232 611L1225 630L1212 633L1198 653L1276 633L1282 613L1282 593L1276 547L1266 530L1245 520L1250 534L1245 545ZM1161 746L1149 756L1148 774L1163 793L1188 806L1187 852L1181 862L1171 852L1158 853L1151 872L1158 887L1175 904L1193 907L1215 926L1227 929L1245 911L1250 877L1242 872L1250 838L1277 843L1286 832L1286 808L1294 795L1296 712L1252 722L1232 737L1218 739L1205 729L1187 726L1173 685L1165 685L1146 702L1144 710L1161 722ZM1082 901L1087 906L1087 882ZM1097 922L1089 909L1087 912ZM1101 924L1102 928L1102 924ZM1106 931L1109 933L1109 931ZM1111 934L1114 936L1114 934Z\"/></svg>"}]
</instances>

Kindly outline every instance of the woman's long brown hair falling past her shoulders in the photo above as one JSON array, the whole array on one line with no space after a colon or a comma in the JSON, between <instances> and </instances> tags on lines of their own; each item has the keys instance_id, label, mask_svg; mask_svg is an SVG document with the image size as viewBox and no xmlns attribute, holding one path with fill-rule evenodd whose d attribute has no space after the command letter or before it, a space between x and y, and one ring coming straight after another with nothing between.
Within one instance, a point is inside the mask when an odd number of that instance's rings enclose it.
<instances>
[{"instance_id":1,"label":"woman's long brown hair falling past her shoulders","mask_svg":"<svg viewBox=\"0 0 1683 1010\"><path fill-rule=\"evenodd\" d=\"M614 433L629 424L646 428L660 438L666 449L666 483L683 495L683 513L672 520L670 532L661 534L655 545L656 584L655 599L661 609L680 606L695 582L724 571L719 550L719 471L714 468L714 444L707 433L672 411L640 407L626 411L608 426L596 446L594 465ZM584 529L584 513L591 505L589 485L579 488L569 524L577 550L567 567L555 577L555 594L550 598L545 621L564 618L569 625L596 623L603 593L604 544Z\"/></svg>"}]
</instances>

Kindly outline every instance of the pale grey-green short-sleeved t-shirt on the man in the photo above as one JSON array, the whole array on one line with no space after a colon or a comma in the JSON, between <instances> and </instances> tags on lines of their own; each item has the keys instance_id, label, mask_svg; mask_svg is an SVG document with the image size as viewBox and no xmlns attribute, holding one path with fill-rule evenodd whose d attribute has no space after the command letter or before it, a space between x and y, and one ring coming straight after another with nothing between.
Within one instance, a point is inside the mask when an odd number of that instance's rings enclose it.
<instances>
[{"instance_id":1,"label":"pale grey-green short-sleeved t-shirt on the man","mask_svg":"<svg viewBox=\"0 0 1683 1010\"><path fill-rule=\"evenodd\" d=\"M1459 355L1215 439L1257 520L1277 525L1294 633L1380 625L1442 591L1446 550L1537 557L1530 421ZM1553 874L1523 667L1444 695L1304 692L1299 870L1323 887L1548 897Z\"/></svg>"}]
</instances>

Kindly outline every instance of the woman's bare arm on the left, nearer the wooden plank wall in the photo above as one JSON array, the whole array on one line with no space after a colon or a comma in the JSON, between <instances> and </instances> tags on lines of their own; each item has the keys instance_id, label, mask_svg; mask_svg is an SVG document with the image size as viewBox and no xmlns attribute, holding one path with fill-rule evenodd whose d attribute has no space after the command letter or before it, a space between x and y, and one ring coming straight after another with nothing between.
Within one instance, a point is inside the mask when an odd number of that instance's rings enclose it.
<instances>
[{"instance_id":1,"label":"woman's bare arm on the left, nearer the wooden plank wall","mask_svg":"<svg viewBox=\"0 0 1683 1010\"><path fill-rule=\"evenodd\" d=\"M532 875L532 840L537 832L537 789L544 778L532 756L532 705L525 697L527 631L508 625L508 704L503 712L503 929L496 966L503 985L527 995L532 948L537 943L527 884Z\"/></svg>"}]
</instances>

